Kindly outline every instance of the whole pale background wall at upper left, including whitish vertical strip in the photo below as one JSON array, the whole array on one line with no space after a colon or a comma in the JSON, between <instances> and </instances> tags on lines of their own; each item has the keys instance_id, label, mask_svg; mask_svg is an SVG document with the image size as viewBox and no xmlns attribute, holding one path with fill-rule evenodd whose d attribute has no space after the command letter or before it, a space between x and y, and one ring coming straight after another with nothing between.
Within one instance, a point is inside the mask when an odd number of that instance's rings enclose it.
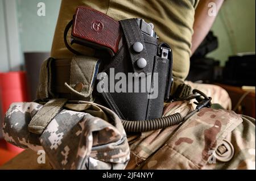
<instances>
[{"instance_id":1,"label":"whole pale background wall at upper left, including whitish vertical strip","mask_svg":"<svg viewBox=\"0 0 256 181\"><path fill-rule=\"evenodd\" d=\"M45 3L46 16L38 16L39 2ZM24 52L51 50L60 2L0 0L0 72L23 69Z\"/></svg>"}]
</instances>

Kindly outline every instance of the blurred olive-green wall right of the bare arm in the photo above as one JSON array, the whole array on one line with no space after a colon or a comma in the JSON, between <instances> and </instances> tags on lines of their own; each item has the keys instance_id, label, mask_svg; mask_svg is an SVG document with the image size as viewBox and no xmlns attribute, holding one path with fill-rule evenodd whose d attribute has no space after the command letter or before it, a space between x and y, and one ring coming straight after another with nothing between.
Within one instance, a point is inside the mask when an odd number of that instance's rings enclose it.
<instances>
[{"instance_id":1,"label":"blurred olive-green wall right of the bare arm","mask_svg":"<svg viewBox=\"0 0 256 181\"><path fill-rule=\"evenodd\" d=\"M218 48L208 54L225 65L228 56L255 52L255 1L226 0L213 24Z\"/></svg>"}]
</instances>

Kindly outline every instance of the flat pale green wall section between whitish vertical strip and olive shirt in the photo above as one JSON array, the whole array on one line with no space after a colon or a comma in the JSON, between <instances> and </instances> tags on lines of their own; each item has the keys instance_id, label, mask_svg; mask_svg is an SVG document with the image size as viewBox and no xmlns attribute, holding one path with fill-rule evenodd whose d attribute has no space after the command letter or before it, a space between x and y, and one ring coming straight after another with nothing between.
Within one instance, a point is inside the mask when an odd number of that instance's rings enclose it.
<instances>
[{"instance_id":1,"label":"flat pale green wall section between whitish vertical strip and olive shirt","mask_svg":"<svg viewBox=\"0 0 256 181\"><path fill-rule=\"evenodd\" d=\"M46 16L36 15L38 2L46 5ZM20 47L22 52L48 52L59 14L60 0L18 0Z\"/></svg>"}]
</instances>

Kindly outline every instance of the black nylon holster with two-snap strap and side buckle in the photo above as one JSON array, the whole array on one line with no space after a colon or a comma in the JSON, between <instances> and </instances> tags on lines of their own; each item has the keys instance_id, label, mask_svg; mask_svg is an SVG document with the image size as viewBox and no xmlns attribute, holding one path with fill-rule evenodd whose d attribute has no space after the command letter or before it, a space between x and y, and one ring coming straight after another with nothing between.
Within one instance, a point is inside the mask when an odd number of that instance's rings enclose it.
<instances>
[{"instance_id":1,"label":"black nylon holster with two-snap strap and side buckle","mask_svg":"<svg viewBox=\"0 0 256 181\"><path fill-rule=\"evenodd\" d=\"M172 84L171 48L165 43L158 44L158 39L155 37L141 33L135 19L121 20L120 23L123 31L123 45L103 70L108 75L109 89L102 92L101 95L108 107L121 119L148 120L162 117L164 100L169 99ZM143 50L139 53L133 50L135 42L143 44ZM144 58L147 61L146 66L142 69L137 65L139 58ZM114 84L112 82L111 85L110 82L113 81L111 68L114 68L115 75L117 73L126 75L126 90L128 90L127 87L133 85L132 92L110 90L119 81L119 79L114 79ZM129 79L129 73L133 73L133 79ZM141 89L145 79L147 79L146 91ZM156 94L157 96L155 96Z\"/></svg>"}]
</instances>

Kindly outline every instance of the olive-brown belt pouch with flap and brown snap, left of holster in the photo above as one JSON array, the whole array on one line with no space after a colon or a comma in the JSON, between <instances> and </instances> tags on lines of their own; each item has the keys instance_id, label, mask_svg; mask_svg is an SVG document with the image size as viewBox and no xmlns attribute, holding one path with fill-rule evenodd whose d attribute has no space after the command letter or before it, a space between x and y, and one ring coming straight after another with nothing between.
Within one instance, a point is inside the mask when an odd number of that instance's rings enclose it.
<instances>
[{"instance_id":1,"label":"olive-brown belt pouch with flap and brown snap, left of holster","mask_svg":"<svg viewBox=\"0 0 256 181\"><path fill-rule=\"evenodd\" d=\"M46 61L41 68L38 99L61 97L91 102L100 60L85 56L51 60L51 66Z\"/></svg>"}]
</instances>

